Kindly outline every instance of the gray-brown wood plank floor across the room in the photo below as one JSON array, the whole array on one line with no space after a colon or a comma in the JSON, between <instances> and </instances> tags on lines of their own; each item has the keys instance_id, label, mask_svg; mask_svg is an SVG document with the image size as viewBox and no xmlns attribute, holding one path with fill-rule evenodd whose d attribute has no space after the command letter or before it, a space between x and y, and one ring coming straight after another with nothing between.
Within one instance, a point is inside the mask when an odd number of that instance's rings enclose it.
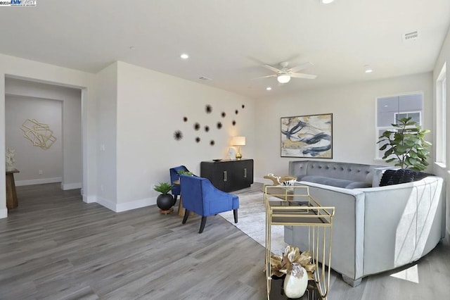
<instances>
[{"instance_id":1,"label":"gray-brown wood plank floor across the room","mask_svg":"<svg viewBox=\"0 0 450 300\"><path fill-rule=\"evenodd\" d=\"M200 217L181 225L156 206L114 213L59 184L17 192L0 220L0 299L266 299L264 248L219 215L199 235ZM333 273L328 299L447 299L449 250L439 243L410 280L383 273L352 288Z\"/></svg>"}]
</instances>

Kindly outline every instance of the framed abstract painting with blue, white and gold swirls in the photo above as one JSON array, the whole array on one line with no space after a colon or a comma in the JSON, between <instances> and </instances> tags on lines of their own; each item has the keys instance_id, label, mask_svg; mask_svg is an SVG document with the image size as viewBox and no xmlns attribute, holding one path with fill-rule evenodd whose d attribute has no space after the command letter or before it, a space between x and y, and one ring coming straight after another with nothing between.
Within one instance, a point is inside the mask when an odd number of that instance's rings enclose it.
<instances>
[{"instance_id":1,"label":"framed abstract painting with blue, white and gold swirls","mask_svg":"<svg viewBox=\"0 0 450 300\"><path fill-rule=\"evenodd\" d=\"M281 157L333 158L333 113L281 118Z\"/></svg>"}]
</instances>

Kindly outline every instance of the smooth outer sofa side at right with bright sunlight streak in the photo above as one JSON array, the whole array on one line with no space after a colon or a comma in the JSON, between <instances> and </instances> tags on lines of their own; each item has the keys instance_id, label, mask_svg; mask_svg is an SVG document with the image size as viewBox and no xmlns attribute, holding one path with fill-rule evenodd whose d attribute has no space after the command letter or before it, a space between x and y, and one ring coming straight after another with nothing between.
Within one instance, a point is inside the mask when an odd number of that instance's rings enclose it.
<instances>
[{"instance_id":1,"label":"smooth outer sofa side at right with bright sunlight streak","mask_svg":"<svg viewBox=\"0 0 450 300\"><path fill-rule=\"evenodd\" d=\"M442 236L442 178L364 190L364 275L397 268L431 251Z\"/></svg>"}]
</instances>

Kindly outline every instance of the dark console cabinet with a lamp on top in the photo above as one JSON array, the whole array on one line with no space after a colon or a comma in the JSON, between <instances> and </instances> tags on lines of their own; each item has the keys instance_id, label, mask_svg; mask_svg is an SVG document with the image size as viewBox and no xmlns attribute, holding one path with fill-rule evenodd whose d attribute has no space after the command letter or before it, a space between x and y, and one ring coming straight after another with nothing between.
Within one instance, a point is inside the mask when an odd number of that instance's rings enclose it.
<instances>
[{"instance_id":1,"label":"dark console cabinet with a lamp on top","mask_svg":"<svg viewBox=\"0 0 450 300\"><path fill-rule=\"evenodd\" d=\"M214 187L224 192L245 189L253 183L253 160L202 161L200 176L209 179Z\"/></svg>"}]
</instances>

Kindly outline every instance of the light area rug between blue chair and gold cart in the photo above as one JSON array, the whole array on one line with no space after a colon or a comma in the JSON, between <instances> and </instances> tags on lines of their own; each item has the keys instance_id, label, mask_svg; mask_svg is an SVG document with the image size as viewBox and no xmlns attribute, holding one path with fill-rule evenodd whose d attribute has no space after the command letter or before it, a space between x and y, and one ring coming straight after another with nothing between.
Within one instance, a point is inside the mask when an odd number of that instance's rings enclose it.
<instances>
[{"instance_id":1,"label":"light area rug between blue chair and gold cart","mask_svg":"<svg viewBox=\"0 0 450 300\"><path fill-rule=\"evenodd\" d=\"M262 246L266 246L266 208L262 192L248 192L239 194L238 223L234 223L233 211L226 211L220 215L229 223L248 235ZM283 254L284 226L272 226L271 251Z\"/></svg>"}]
</instances>

